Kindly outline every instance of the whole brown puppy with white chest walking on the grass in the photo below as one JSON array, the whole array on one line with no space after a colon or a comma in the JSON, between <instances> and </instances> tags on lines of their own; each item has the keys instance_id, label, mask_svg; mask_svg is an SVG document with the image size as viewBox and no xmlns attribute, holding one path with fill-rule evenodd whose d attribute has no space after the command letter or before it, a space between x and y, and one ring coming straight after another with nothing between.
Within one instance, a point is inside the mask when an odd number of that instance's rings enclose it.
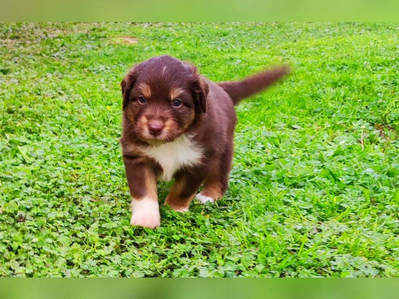
<instances>
[{"instance_id":1,"label":"whole brown puppy with white chest walking on the grass","mask_svg":"<svg viewBox=\"0 0 399 299\"><path fill-rule=\"evenodd\" d=\"M214 83L170 56L137 64L123 79L121 145L132 196L132 225L160 226L157 179L175 183L165 203L188 211L197 194L214 202L227 189L236 124L234 105L288 73Z\"/></svg>"}]
</instances>

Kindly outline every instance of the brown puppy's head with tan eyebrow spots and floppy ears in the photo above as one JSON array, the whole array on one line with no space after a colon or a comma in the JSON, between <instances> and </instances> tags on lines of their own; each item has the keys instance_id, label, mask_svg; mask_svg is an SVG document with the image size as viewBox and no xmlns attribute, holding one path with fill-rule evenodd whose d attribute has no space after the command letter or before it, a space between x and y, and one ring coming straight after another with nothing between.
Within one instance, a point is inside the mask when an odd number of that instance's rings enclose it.
<instances>
[{"instance_id":1,"label":"brown puppy's head with tan eyebrow spots and floppy ears","mask_svg":"<svg viewBox=\"0 0 399 299\"><path fill-rule=\"evenodd\" d=\"M177 58L137 64L121 87L128 131L149 144L175 140L206 112L207 84L195 66Z\"/></svg>"}]
</instances>

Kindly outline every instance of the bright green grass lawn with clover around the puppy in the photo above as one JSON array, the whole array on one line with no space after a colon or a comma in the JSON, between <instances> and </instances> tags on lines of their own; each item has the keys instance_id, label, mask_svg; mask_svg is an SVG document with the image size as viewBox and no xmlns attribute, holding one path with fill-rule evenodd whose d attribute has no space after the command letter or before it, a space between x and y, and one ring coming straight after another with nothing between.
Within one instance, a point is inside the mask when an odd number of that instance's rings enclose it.
<instances>
[{"instance_id":1,"label":"bright green grass lawn with clover around the puppy","mask_svg":"<svg viewBox=\"0 0 399 299\"><path fill-rule=\"evenodd\" d=\"M1 277L399 277L399 24L0 24ZM128 43L123 37L135 37ZM170 54L237 107L226 195L132 227L119 84Z\"/></svg>"}]
</instances>

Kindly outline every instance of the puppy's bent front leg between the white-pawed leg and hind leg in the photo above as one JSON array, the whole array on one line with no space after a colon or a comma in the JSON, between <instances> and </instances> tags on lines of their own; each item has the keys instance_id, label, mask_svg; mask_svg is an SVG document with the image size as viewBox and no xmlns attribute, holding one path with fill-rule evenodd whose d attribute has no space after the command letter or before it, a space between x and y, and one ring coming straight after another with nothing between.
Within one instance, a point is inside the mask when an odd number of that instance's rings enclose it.
<instances>
[{"instance_id":1,"label":"puppy's bent front leg between the white-pawed leg and hind leg","mask_svg":"<svg viewBox=\"0 0 399 299\"><path fill-rule=\"evenodd\" d=\"M181 171L175 176L175 184L172 186L165 204L175 211L187 212L202 180L202 175Z\"/></svg>"}]
</instances>

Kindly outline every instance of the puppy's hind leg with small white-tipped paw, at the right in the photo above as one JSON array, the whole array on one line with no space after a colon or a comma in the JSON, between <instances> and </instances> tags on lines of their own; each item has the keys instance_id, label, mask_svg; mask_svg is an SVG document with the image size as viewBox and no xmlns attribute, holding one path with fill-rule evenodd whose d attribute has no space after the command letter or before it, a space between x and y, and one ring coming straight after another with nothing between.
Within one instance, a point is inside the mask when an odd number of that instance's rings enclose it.
<instances>
[{"instance_id":1,"label":"puppy's hind leg with small white-tipped paw, at the right","mask_svg":"<svg viewBox=\"0 0 399 299\"><path fill-rule=\"evenodd\" d=\"M224 192L226 192L232 158L233 146L231 144L226 147L219 159L214 161L208 175L205 177L203 189L196 195L196 198L200 200L200 202L205 203L210 201L213 203L215 200L222 197Z\"/></svg>"}]
</instances>

